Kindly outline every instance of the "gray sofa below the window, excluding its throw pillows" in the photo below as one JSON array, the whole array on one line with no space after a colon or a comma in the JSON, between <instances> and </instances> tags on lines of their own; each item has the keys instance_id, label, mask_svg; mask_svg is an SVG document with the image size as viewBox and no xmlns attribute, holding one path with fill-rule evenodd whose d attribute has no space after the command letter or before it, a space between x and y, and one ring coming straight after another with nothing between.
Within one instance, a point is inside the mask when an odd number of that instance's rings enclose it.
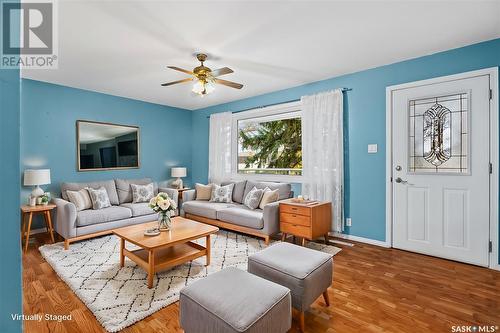
<instances>
[{"instance_id":1,"label":"gray sofa below the window, excluding its throw pillows","mask_svg":"<svg viewBox=\"0 0 500 333\"><path fill-rule=\"evenodd\" d=\"M242 204L243 199L254 186L259 189L278 189L279 200L292 198L291 185L250 180L223 182L221 185L230 183L234 183L232 203L196 200L196 190L185 191L182 195L182 210L185 216L224 229L262 237L268 244L269 237L280 231L279 201L267 204L264 209L252 210Z\"/></svg>"}]
</instances>

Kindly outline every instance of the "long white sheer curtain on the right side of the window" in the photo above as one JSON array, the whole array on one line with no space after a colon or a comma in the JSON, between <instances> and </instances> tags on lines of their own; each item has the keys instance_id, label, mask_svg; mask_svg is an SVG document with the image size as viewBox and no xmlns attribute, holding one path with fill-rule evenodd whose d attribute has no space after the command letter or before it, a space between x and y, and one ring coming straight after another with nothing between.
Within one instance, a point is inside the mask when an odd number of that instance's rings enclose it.
<instances>
[{"instance_id":1,"label":"long white sheer curtain on the right side of the window","mask_svg":"<svg viewBox=\"0 0 500 333\"><path fill-rule=\"evenodd\" d=\"M333 231L343 229L343 96L340 89L302 102L302 195L332 202Z\"/></svg>"}]
</instances>

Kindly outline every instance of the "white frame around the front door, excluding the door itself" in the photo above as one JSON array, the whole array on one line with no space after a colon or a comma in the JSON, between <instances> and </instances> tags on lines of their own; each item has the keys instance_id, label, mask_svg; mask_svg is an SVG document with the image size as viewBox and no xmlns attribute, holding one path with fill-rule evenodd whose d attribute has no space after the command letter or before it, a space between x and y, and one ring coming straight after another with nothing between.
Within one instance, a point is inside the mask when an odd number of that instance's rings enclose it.
<instances>
[{"instance_id":1,"label":"white frame around the front door, excluding the door itself","mask_svg":"<svg viewBox=\"0 0 500 333\"><path fill-rule=\"evenodd\" d=\"M498 216L498 172L500 169L499 164L499 132L498 132L498 67L484 68L480 70L464 72L454 75L447 75L436 77L428 80L420 80L408 82L386 88L386 233L385 242L388 247L393 247L393 191L392 191L392 96L393 92L397 90L414 88L418 86L436 84L448 81L456 81L466 78L477 76L489 75L490 76L490 89L492 91L492 98L490 99L490 161L493 164L492 173L490 174L490 240L492 242L492 251L489 254L489 268L500 270L499 264L499 216Z\"/></svg>"}]
</instances>

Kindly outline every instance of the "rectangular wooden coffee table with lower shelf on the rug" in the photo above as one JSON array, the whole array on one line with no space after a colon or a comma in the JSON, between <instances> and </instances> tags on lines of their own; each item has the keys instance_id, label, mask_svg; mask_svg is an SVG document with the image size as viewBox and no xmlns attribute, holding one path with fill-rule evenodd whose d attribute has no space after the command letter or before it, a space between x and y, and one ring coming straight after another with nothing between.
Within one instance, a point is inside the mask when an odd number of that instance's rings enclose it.
<instances>
[{"instance_id":1,"label":"rectangular wooden coffee table with lower shelf on the rug","mask_svg":"<svg viewBox=\"0 0 500 333\"><path fill-rule=\"evenodd\" d=\"M120 237L120 266L124 266L125 257L141 266L148 272L148 288L153 287L154 274L161 270L203 256L206 256L206 266L210 265L210 235L219 231L219 228L180 216L174 217L172 222L172 229L158 236L144 235L146 229L158 225L157 221L113 230ZM206 247L192 242L203 237L206 238ZM126 249L125 241L140 249Z\"/></svg>"}]
</instances>

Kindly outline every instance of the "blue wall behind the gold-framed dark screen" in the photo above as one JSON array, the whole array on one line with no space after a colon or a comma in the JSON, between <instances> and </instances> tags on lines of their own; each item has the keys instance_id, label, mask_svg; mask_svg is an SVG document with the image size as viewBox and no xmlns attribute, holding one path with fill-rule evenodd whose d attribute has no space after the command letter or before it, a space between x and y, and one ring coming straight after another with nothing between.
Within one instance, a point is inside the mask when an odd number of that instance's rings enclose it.
<instances>
[{"instance_id":1,"label":"blue wall behind the gold-framed dark screen","mask_svg":"<svg viewBox=\"0 0 500 333\"><path fill-rule=\"evenodd\" d=\"M63 181L151 177L170 179L172 166L186 166L190 182L192 112L163 105L69 88L40 81L21 81L21 170L50 168L59 194ZM141 167L115 171L77 171L76 120L140 127ZM25 201L31 188L23 188Z\"/></svg>"}]
</instances>

